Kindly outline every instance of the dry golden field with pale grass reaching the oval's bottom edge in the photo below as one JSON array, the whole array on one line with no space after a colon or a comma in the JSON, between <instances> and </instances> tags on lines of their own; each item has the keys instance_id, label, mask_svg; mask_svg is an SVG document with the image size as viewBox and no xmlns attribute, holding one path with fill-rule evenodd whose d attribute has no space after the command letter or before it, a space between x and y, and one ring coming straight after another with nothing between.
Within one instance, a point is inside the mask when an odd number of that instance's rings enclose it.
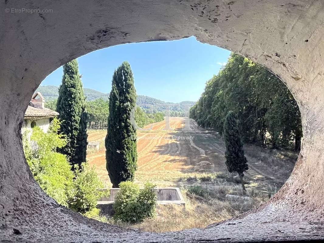
<instances>
[{"instance_id":1,"label":"dry golden field with pale grass reaching the oval's bottom edge","mask_svg":"<svg viewBox=\"0 0 324 243\"><path fill-rule=\"evenodd\" d=\"M164 232L226 220L245 212L272 196L289 177L297 154L285 150L270 150L245 145L249 170L245 172L247 194L253 203L228 202L226 194L241 195L240 182L229 174L225 165L225 144L213 131L199 128L190 120L191 130L183 130L184 118L171 117L137 131L138 168L135 182L153 182L157 187L179 187L187 200L186 208L159 206L157 218L131 227L139 230ZM111 187L106 170L104 139L106 130L89 131L88 141L99 142L99 151L88 151L87 160L95 165L105 187ZM203 188L203 196L188 193L194 185Z\"/></svg>"}]
</instances>

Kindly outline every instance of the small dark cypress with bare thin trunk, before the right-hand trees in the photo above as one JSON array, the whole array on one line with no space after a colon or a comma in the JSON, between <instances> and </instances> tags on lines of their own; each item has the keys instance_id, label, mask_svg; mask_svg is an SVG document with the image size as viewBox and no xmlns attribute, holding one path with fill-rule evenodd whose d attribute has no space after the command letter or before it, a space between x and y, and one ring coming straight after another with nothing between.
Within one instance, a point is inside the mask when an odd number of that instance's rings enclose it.
<instances>
[{"instance_id":1,"label":"small dark cypress with bare thin trunk, before the right-hand trees","mask_svg":"<svg viewBox=\"0 0 324 243\"><path fill-rule=\"evenodd\" d=\"M244 156L243 142L237 125L236 114L229 111L224 122L224 139L226 144L226 166L230 173L237 172L242 184L243 193L246 194L243 176L249 169Z\"/></svg>"}]
</instances>

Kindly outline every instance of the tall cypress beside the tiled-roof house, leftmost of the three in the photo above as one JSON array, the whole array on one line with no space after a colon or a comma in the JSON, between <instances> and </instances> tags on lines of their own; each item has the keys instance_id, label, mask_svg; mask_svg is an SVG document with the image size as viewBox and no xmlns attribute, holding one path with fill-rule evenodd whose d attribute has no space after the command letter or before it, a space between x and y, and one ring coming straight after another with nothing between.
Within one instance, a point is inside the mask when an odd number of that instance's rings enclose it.
<instances>
[{"instance_id":1,"label":"tall cypress beside the tiled-roof house, leftmost of the three","mask_svg":"<svg viewBox=\"0 0 324 243\"><path fill-rule=\"evenodd\" d=\"M63 65L62 84L56 110L60 113L60 133L65 134L67 145L60 152L69 158L72 165L81 165L86 160L87 119L85 97L77 60ZM81 119L81 117L83 119Z\"/></svg>"}]
</instances>

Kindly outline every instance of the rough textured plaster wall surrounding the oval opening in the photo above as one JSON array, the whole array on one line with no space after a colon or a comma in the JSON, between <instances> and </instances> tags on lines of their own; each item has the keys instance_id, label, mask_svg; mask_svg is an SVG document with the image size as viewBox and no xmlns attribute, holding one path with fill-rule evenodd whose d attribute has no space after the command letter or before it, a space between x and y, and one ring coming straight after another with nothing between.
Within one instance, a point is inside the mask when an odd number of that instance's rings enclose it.
<instances>
[{"instance_id":1,"label":"rough textured plaster wall surrounding the oval opening","mask_svg":"<svg viewBox=\"0 0 324 243\"><path fill-rule=\"evenodd\" d=\"M52 9L52 13L19 13L22 8ZM0 13L2 242L324 238L323 1L4 0ZM302 115L304 141L295 169L281 190L265 205L237 219L208 229L165 234L133 232L89 220L46 196L30 174L20 134L29 99L46 75L100 48L191 35L257 61L292 91Z\"/></svg>"}]
</instances>

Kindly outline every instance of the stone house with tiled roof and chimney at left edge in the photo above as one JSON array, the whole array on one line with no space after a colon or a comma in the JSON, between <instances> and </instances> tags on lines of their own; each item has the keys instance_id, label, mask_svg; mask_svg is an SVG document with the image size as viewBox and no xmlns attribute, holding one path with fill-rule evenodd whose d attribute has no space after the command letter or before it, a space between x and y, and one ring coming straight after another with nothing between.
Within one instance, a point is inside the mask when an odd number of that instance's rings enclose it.
<instances>
[{"instance_id":1,"label":"stone house with tiled roof and chimney at left edge","mask_svg":"<svg viewBox=\"0 0 324 243\"><path fill-rule=\"evenodd\" d=\"M31 129L39 126L44 133L47 133L50 122L58 115L58 112L45 108L44 97L40 92L36 92L25 112L23 128Z\"/></svg>"}]
</instances>

